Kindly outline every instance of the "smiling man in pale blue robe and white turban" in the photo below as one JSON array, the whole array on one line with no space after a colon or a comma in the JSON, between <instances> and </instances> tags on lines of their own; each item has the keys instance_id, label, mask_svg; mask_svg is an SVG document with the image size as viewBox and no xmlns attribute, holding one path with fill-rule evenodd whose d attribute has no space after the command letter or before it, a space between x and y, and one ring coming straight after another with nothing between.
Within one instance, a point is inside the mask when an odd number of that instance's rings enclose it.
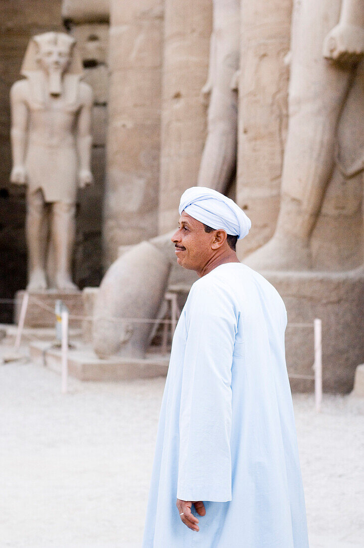
<instances>
[{"instance_id":1,"label":"smiling man in pale blue robe and white turban","mask_svg":"<svg viewBox=\"0 0 364 548\"><path fill-rule=\"evenodd\" d=\"M251 223L232 200L192 187L179 211L177 262L200 279L172 343L143 547L307 548L284 303L236 257Z\"/></svg>"}]
</instances>

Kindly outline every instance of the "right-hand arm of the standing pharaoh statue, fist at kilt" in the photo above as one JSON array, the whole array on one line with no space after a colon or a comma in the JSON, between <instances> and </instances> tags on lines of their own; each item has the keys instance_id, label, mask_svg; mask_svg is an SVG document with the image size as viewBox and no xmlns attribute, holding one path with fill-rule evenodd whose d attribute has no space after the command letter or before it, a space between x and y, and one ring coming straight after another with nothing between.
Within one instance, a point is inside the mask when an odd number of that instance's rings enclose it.
<instances>
[{"instance_id":1,"label":"right-hand arm of the standing pharaoh statue, fist at kilt","mask_svg":"<svg viewBox=\"0 0 364 548\"><path fill-rule=\"evenodd\" d=\"M91 112L93 107L93 92L88 84L80 83L81 107L77 119L77 152L79 162L79 187L90 185L91 174Z\"/></svg>"}]
</instances>

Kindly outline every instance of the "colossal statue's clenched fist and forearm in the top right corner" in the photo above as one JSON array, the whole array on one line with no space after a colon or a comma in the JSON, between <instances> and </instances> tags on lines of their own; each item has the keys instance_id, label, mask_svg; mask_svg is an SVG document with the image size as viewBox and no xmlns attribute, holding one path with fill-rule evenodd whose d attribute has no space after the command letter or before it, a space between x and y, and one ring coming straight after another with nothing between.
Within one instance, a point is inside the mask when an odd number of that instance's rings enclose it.
<instances>
[{"instance_id":1,"label":"colossal statue's clenched fist and forearm in the top right corner","mask_svg":"<svg viewBox=\"0 0 364 548\"><path fill-rule=\"evenodd\" d=\"M323 42L323 56L353 64L364 54L364 2L342 0L340 20Z\"/></svg>"}]
</instances>

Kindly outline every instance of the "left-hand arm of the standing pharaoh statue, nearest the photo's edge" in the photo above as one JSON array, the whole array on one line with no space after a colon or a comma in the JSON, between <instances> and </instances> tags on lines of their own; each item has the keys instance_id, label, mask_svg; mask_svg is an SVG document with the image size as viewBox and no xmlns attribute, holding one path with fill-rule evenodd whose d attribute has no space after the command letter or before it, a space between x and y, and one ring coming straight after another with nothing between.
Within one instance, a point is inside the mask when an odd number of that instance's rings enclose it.
<instances>
[{"instance_id":1,"label":"left-hand arm of the standing pharaoh statue, nearest the photo's edge","mask_svg":"<svg viewBox=\"0 0 364 548\"><path fill-rule=\"evenodd\" d=\"M28 107L26 104L27 82L15 82L10 90L11 107L11 151L13 154L13 169L10 181L22 185L26 182L25 148L28 125Z\"/></svg>"}]
</instances>

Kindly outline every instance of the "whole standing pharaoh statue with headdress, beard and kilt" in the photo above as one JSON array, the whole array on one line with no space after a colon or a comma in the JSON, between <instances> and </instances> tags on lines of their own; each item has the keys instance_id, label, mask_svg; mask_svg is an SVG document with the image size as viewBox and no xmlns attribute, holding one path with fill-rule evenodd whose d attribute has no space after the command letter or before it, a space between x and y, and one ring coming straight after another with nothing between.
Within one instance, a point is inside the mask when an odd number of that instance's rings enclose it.
<instances>
[{"instance_id":1,"label":"whole standing pharaoh statue with headdress, beard and kilt","mask_svg":"<svg viewBox=\"0 0 364 548\"><path fill-rule=\"evenodd\" d=\"M10 92L13 169L10 181L27 185L27 290L70 291L77 187L91 184L90 86L80 79L75 41L60 32L34 36ZM52 253L49 261L49 253ZM47 260L48 259L48 260Z\"/></svg>"}]
</instances>

